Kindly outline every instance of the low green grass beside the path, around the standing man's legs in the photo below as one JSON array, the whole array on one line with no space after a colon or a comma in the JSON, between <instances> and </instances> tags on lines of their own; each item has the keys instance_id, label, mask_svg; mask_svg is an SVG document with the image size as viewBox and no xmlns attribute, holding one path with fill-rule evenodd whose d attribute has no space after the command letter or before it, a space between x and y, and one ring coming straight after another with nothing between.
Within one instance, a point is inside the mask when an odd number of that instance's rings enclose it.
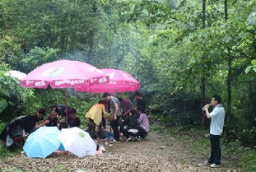
<instances>
[{"instance_id":1,"label":"low green grass beside the path, around the standing man's legs","mask_svg":"<svg viewBox=\"0 0 256 172\"><path fill-rule=\"evenodd\" d=\"M193 128L192 126L173 128L151 126L151 131L178 138L184 142L184 145L189 146L193 154L200 154L206 157L210 154L211 143L208 138L204 137L208 130ZM225 159L229 159L232 166L237 166L243 171L256 171L256 147L249 149L241 146L238 141L226 142L225 138L221 137L221 151L222 156L225 156Z\"/></svg>"}]
</instances>

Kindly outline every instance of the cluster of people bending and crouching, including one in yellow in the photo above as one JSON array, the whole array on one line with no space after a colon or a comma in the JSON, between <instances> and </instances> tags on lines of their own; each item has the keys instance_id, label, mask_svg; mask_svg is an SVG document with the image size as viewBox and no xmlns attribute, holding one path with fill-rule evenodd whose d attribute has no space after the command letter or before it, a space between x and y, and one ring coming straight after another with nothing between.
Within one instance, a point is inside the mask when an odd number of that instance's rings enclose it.
<instances>
[{"instance_id":1,"label":"cluster of people bending and crouching, including one in yellow","mask_svg":"<svg viewBox=\"0 0 256 172\"><path fill-rule=\"evenodd\" d=\"M146 103L139 91L134 93L134 98L137 101L135 107L133 107L131 100L116 98L109 93L104 93L102 98L104 100L93 105L86 114L86 119L90 121L88 132L92 136L105 137L105 119L109 119L114 133L114 142L119 142L122 134L127 138L127 142L147 137L149 120L145 114ZM95 130L96 127L98 132Z\"/></svg>"}]
</instances>

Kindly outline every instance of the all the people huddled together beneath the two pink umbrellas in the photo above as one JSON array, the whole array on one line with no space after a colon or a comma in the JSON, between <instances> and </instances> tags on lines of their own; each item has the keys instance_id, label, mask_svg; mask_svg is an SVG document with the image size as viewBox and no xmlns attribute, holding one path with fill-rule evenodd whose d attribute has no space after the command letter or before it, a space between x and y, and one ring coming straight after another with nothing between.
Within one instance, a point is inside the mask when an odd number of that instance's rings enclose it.
<instances>
[{"instance_id":1,"label":"all the people huddled together beneath the two pink umbrellas","mask_svg":"<svg viewBox=\"0 0 256 172\"><path fill-rule=\"evenodd\" d=\"M149 121L145 114L146 103L139 91L134 93L134 98L137 100L135 107L131 100L116 98L109 93L104 93L103 98L104 100L93 105L85 115L85 118L88 119L86 132L89 132L93 139L110 136L113 137L113 142L119 142L119 137L122 136L120 133L123 133L127 142L130 142L147 136ZM16 136L26 137L42 126L56 126L59 129L81 126L77 110L69 105L50 105L49 112L47 118L44 118L46 109L39 109L35 115L13 119L3 129L0 139L6 142L7 146L11 146ZM113 134L106 130L106 119L109 119Z\"/></svg>"}]
</instances>

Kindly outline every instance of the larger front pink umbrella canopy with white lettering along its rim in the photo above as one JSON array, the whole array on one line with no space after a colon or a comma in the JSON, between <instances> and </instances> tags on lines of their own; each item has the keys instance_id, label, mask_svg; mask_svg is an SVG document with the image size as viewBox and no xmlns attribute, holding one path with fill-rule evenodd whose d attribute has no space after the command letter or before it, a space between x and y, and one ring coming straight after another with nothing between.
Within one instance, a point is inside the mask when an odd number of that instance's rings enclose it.
<instances>
[{"instance_id":1,"label":"larger front pink umbrella canopy with white lettering along its rim","mask_svg":"<svg viewBox=\"0 0 256 172\"><path fill-rule=\"evenodd\" d=\"M35 68L21 80L21 86L30 88L67 88L94 86L107 83L109 76L87 63L58 60Z\"/></svg>"}]
</instances>

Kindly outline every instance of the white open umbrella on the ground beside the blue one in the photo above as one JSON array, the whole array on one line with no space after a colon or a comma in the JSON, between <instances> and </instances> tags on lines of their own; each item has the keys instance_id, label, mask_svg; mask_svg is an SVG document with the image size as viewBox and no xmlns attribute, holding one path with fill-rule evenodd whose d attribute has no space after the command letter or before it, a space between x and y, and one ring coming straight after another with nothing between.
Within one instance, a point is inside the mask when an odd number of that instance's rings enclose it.
<instances>
[{"instance_id":1,"label":"white open umbrella on the ground beside the blue one","mask_svg":"<svg viewBox=\"0 0 256 172\"><path fill-rule=\"evenodd\" d=\"M95 142L88 132L80 128L63 128L58 139L62 142L65 151L69 151L76 156L95 156L96 154L97 146Z\"/></svg>"}]
</instances>

